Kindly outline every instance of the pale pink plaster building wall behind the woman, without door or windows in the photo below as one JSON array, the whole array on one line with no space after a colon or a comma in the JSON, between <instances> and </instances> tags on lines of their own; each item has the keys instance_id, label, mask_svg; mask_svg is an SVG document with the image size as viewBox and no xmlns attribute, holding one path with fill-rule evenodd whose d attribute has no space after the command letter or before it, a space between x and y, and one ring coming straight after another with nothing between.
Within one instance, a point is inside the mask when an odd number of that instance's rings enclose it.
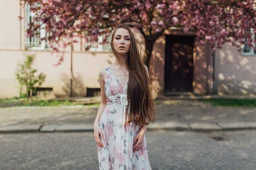
<instances>
[{"instance_id":1,"label":"pale pink plaster building wall behind the woman, without door or windows","mask_svg":"<svg viewBox=\"0 0 256 170\"><path fill-rule=\"evenodd\" d=\"M25 50L25 22L18 20L24 9L20 8L19 0L0 1L0 98L19 95L19 85L15 77L17 62L25 59L24 54L35 54L33 67L38 72L47 75L42 87L53 88L55 96L67 96L64 91L70 79L70 48L65 49L64 62L55 67L57 62L55 54L51 51ZM145 40L137 29L132 29L145 49ZM183 34L178 31L165 34ZM194 34L194 33L188 33ZM184 35L184 34L183 34ZM82 42L83 45L84 42ZM150 75L157 91L164 91L164 62L165 62L165 36L161 36L154 43L150 62ZM236 48L224 45L222 50L215 54L214 80L212 79L212 54L208 46L202 47L195 42L194 49L194 81L193 92L204 95L207 91L215 93L242 94L256 93L255 86L255 57L241 56ZM73 74L77 79L76 90L80 96L86 95L86 88L99 88L99 70L108 67L115 61L112 52L84 51L81 43L74 45ZM235 85L230 91L229 86ZM244 91L250 91L245 93ZM157 93L154 93L157 96Z\"/></svg>"}]
</instances>

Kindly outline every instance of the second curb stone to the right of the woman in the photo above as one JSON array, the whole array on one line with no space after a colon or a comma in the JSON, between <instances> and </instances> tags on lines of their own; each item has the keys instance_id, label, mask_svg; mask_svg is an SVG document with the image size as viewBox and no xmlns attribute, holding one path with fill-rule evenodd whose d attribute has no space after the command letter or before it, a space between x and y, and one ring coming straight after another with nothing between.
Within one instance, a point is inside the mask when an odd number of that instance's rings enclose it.
<instances>
[{"instance_id":1,"label":"second curb stone to the right of the woman","mask_svg":"<svg viewBox=\"0 0 256 170\"><path fill-rule=\"evenodd\" d=\"M221 127L214 123L192 123L189 124L192 131L211 132L216 130L222 130Z\"/></svg>"}]
</instances>

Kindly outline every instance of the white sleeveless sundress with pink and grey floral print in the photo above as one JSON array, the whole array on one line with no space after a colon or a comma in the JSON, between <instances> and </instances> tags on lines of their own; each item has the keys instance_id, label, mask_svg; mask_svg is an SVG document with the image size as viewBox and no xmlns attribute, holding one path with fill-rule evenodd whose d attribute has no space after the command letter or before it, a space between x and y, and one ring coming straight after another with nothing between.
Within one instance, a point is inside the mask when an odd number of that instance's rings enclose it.
<instances>
[{"instance_id":1,"label":"white sleeveless sundress with pink and grey floral print","mask_svg":"<svg viewBox=\"0 0 256 170\"><path fill-rule=\"evenodd\" d=\"M142 147L133 152L133 140L141 126L131 122L124 127L125 111L128 109L128 118L130 109L127 99L128 83L122 88L119 81L111 74L110 67L105 68L105 71L107 72L105 94L108 99L99 120L105 138L102 140L100 137L104 147L97 145L99 169L151 170L145 136Z\"/></svg>"}]
</instances>

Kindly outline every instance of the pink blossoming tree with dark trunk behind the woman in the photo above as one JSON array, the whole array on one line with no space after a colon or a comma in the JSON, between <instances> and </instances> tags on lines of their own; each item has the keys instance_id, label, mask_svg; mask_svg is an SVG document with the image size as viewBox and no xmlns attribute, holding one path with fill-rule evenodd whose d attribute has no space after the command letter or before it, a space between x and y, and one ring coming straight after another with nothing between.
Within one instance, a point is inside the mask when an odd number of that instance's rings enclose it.
<instances>
[{"instance_id":1,"label":"pink blossoming tree with dark trunk behind the woman","mask_svg":"<svg viewBox=\"0 0 256 170\"><path fill-rule=\"evenodd\" d=\"M232 42L252 45L256 33L256 0L26 0L35 13L27 36L44 26L56 52L77 42L76 37L97 42L110 35L113 26L128 23L145 38L145 64L149 66L153 44L165 30L195 31L202 45L212 48ZM38 5L40 4L40 5ZM38 24L41 23L41 24ZM106 39L103 40L106 42ZM57 44L58 48L55 45ZM59 59L59 64L63 56Z\"/></svg>"}]
</instances>

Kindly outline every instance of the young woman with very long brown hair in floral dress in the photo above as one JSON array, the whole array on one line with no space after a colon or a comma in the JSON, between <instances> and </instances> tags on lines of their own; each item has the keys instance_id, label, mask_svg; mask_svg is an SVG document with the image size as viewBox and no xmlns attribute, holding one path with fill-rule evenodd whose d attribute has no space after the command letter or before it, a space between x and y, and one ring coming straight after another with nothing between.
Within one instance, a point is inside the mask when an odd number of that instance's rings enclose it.
<instances>
[{"instance_id":1,"label":"young woman with very long brown hair in floral dress","mask_svg":"<svg viewBox=\"0 0 256 170\"><path fill-rule=\"evenodd\" d=\"M137 45L131 29L117 25L111 39L116 61L99 72L102 101L94 137L100 170L151 170L145 132L154 122L154 103Z\"/></svg>"}]
</instances>

